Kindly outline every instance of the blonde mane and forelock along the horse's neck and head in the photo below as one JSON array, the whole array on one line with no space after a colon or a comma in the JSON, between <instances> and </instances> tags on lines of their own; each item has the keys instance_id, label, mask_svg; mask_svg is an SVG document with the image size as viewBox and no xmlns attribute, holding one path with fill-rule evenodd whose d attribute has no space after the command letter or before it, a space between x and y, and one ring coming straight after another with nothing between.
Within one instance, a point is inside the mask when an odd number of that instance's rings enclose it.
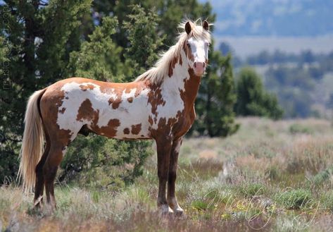
<instances>
[{"instance_id":1,"label":"blonde mane and forelock along the horse's neck and head","mask_svg":"<svg viewBox=\"0 0 333 232\"><path fill-rule=\"evenodd\" d=\"M187 32L184 31L185 24L189 22L191 24L191 32L187 35ZM211 33L207 30L204 30L201 26L201 19L196 21L184 20L178 28L182 30L178 35L178 42L170 47L168 51L161 54L161 58L155 63L155 65L150 68L148 71L139 75L135 82L149 80L153 84L159 84L162 82L165 75L168 75L168 70L172 60L180 56L184 42L190 37L195 37L196 39L206 39L208 42L211 42Z\"/></svg>"}]
</instances>

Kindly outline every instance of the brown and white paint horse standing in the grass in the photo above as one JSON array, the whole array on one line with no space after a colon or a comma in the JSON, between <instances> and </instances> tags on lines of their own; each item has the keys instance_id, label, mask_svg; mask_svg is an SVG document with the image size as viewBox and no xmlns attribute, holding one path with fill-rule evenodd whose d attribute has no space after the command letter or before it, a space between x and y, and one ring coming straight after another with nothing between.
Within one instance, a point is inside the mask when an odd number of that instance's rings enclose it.
<instances>
[{"instance_id":1,"label":"brown and white paint horse standing in the grass","mask_svg":"<svg viewBox=\"0 0 333 232\"><path fill-rule=\"evenodd\" d=\"M155 140L158 208L163 214L183 213L175 196L177 159L196 116L194 100L211 42L208 22L198 22L181 23L178 42L132 83L68 78L32 94L18 176L25 191L34 186L35 207L42 204L44 188L47 204L56 207L54 179L66 148L77 134L92 132L120 140Z\"/></svg>"}]
</instances>

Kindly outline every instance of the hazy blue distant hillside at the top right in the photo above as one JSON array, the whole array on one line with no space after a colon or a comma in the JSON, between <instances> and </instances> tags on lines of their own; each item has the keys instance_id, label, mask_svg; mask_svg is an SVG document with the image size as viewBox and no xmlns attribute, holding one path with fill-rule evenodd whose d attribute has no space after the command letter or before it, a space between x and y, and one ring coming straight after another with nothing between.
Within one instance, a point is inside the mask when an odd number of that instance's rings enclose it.
<instances>
[{"instance_id":1,"label":"hazy blue distant hillside at the top right","mask_svg":"<svg viewBox=\"0 0 333 232\"><path fill-rule=\"evenodd\" d=\"M201 2L206 2L201 0ZM332 0L210 0L214 35L315 37L333 34Z\"/></svg>"}]
</instances>

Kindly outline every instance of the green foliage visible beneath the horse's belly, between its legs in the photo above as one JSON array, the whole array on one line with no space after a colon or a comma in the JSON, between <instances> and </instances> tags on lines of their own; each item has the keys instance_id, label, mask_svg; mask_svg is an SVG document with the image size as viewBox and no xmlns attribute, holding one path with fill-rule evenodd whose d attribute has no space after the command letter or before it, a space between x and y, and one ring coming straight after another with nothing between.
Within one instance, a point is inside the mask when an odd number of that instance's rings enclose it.
<instances>
[{"instance_id":1,"label":"green foliage visible beneath the horse's belly, between its legs","mask_svg":"<svg viewBox=\"0 0 333 232\"><path fill-rule=\"evenodd\" d=\"M90 135L78 136L61 163L59 181L75 181L92 188L121 188L142 175L151 142L125 142Z\"/></svg>"}]
</instances>

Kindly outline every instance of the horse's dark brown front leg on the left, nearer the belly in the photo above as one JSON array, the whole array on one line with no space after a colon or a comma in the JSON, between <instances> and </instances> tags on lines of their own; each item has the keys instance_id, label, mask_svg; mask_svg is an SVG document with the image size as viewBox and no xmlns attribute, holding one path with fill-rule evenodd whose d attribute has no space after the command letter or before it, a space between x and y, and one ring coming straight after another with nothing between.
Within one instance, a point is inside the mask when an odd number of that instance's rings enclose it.
<instances>
[{"instance_id":1,"label":"horse's dark brown front leg on the left, nearer the belly","mask_svg":"<svg viewBox=\"0 0 333 232\"><path fill-rule=\"evenodd\" d=\"M158 169L158 197L157 206L163 215L173 214L172 209L169 207L165 195L165 185L168 180L170 152L172 147L172 140L167 136L156 140L157 147L157 169Z\"/></svg>"}]
</instances>

